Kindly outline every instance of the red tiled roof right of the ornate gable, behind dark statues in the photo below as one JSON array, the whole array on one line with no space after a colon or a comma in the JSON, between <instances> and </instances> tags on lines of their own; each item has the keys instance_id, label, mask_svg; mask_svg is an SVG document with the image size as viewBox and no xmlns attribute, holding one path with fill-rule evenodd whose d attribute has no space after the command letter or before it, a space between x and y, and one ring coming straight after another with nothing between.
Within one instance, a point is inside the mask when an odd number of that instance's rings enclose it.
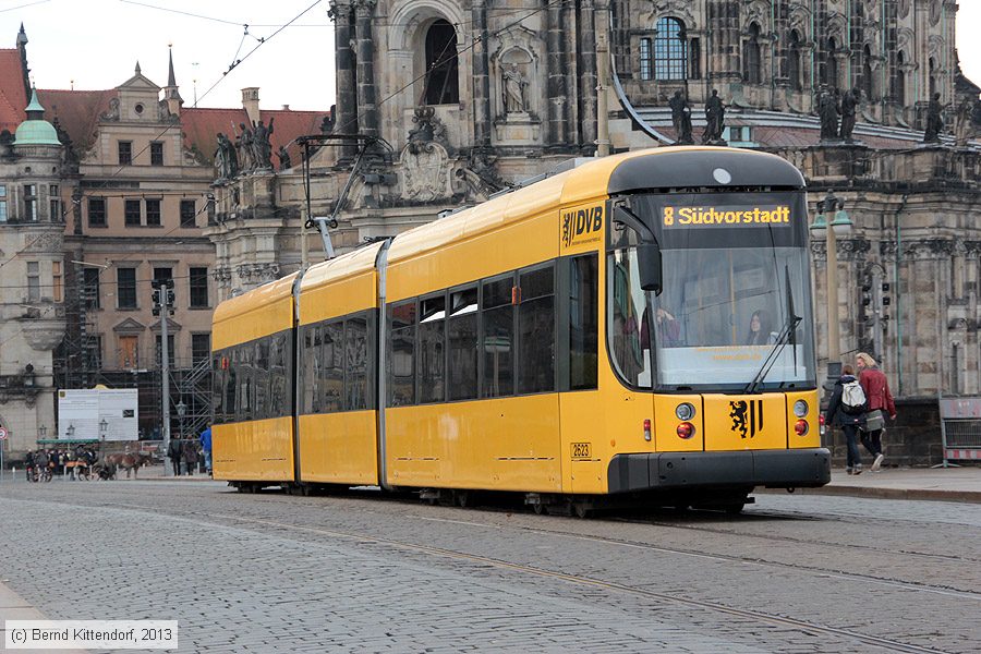
<instances>
[{"instance_id":1,"label":"red tiled roof right of the ornate gable, behind dark statues","mask_svg":"<svg viewBox=\"0 0 981 654\"><path fill-rule=\"evenodd\" d=\"M304 134L319 134L320 121L327 114L326 111L293 111L291 109L261 110L263 122L272 122L272 135L269 138L272 145L272 165L279 168L279 158L276 153L280 145L287 145L298 136ZM208 161L214 160L215 148L218 145L218 132L223 132L229 138L234 140L234 133L239 132L239 123L249 123L249 117L244 109L181 109L181 125L184 131L184 145L203 154ZM233 126L234 125L234 130ZM292 144L287 147L293 166L300 162L300 147Z\"/></svg>"}]
</instances>

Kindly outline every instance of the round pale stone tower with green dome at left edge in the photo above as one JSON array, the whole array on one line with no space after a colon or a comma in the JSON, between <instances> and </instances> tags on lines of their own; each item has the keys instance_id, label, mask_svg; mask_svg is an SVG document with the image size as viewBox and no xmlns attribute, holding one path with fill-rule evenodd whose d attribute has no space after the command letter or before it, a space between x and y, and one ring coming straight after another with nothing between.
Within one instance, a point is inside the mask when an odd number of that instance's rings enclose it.
<instances>
[{"instance_id":1,"label":"round pale stone tower with green dome at left edge","mask_svg":"<svg viewBox=\"0 0 981 654\"><path fill-rule=\"evenodd\" d=\"M19 38L17 50L0 51L0 64L19 65L25 44ZM0 447L7 451L56 435L52 352L65 329L62 197L76 184L37 93L26 75L17 82L4 89L0 109L0 426L10 438Z\"/></svg>"}]
</instances>

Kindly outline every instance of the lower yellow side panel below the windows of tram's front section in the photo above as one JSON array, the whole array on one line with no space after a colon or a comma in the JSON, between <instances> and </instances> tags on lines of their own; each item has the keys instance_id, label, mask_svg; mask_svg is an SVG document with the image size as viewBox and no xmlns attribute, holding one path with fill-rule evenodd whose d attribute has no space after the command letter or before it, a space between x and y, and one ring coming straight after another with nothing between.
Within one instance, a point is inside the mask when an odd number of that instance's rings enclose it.
<instances>
[{"instance_id":1,"label":"lower yellow side panel below the windows of tram's front section","mask_svg":"<svg viewBox=\"0 0 981 654\"><path fill-rule=\"evenodd\" d=\"M560 493L558 395L386 410L397 486Z\"/></svg>"}]
</instances>

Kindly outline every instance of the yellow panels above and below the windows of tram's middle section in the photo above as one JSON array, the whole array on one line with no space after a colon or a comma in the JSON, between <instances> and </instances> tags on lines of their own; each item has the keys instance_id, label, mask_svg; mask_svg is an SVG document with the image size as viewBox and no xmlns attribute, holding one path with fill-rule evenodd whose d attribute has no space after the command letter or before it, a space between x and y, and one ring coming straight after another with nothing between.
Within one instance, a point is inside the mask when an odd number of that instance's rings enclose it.
<instances>
[{"instance_id":1,"label":"yellow panels above and below the windows of tram's middle section","mask_svg":"<svg viewBox=\"0 0 981 654\"><path fill-rule=\"evenodd\" d=\"M376 308L375 259L382 244L311 267L300 283L300 325ZM300 480L324 484L377 484L377 413L344 411L301 415Z\"/></svg>"}]
</instances>

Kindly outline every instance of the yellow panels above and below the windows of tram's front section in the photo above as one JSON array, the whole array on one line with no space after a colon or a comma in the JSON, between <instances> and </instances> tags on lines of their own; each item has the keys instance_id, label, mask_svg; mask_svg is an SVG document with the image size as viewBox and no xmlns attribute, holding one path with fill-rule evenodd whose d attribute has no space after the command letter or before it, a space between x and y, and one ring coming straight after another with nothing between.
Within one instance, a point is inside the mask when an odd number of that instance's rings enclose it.
<instances>
[{"instance_id":1,"label":"yellow panels above and below the windows of tram's front section","mask_svg":"<svg viewBox=\"0 0 981 654\"><path fill-rule=\"evenodd\" d=\"M559 255L562 173L400 234L388 301ZM561 491L557 393L386 410L388 482L401 486Z\"/></svg>"}]
</instances>

